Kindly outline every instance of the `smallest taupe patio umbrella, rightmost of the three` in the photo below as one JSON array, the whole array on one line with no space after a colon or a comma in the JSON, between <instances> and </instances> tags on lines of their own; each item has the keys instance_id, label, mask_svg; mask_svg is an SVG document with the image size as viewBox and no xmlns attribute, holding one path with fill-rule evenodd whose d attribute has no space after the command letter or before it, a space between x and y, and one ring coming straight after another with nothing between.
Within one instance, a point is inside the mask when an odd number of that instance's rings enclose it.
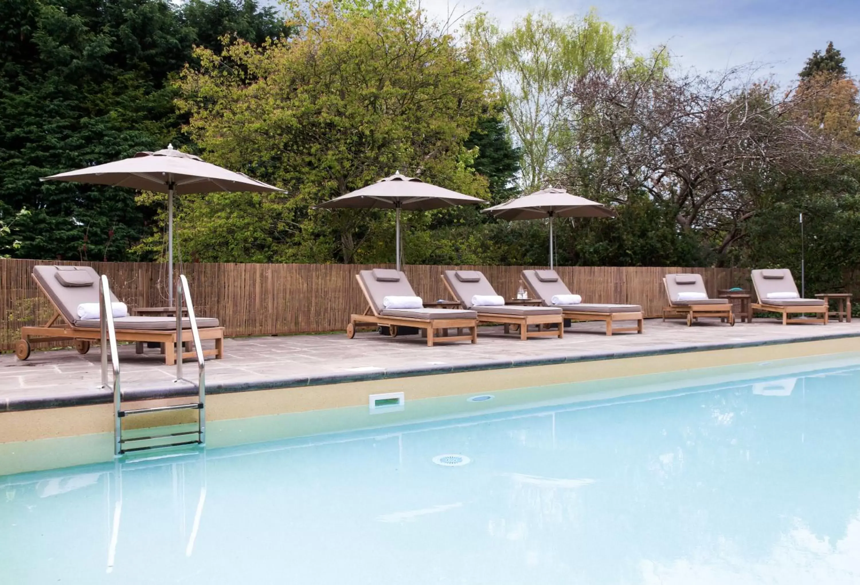
<instances>
[{"instance_id":1,"label":"smallest taupe patio umbrella, rightmost of the three","mask_svg":"<svg viewBox=\"0 0 860 585\"><path fill-rule=\"evenodd\" d=\"M507 220L550 218L550 268L553 268L552 220L554 217L614 217L615 211L596 201L549 187L488 207L485 210Z\"/></svg>"}]
</instances>

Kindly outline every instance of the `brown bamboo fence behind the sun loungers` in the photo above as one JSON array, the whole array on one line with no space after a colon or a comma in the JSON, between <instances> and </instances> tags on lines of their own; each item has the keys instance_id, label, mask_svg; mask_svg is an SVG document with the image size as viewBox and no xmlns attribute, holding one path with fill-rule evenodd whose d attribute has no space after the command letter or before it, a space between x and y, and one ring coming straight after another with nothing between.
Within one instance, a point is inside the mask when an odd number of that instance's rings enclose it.
<instances>
[{"instance_id":1,"label":"brown bamboo fence behind the sun loungers","mask_svg":"<svg viewBox=\"0 0 860 585\"><path fill-rule=\"evenodd\" d=\"M22 326L44 323L53 313L30 276L37 264L90 265L107 274L114 294L130 308L167 304L164 264L0 259L0 350L13 348ZM240 337L342 331L349 314L366 308L355 274L374 267L379 265L187 264L182 270L196 313L217 317L228 336ZM482 271L500 295L513 298L524 268L409 265L403 270L416 294L429 301L450 298L439 275L451 269ZM746 287L749 277L749 271L733 268L561 266L556 271L584 301L642 305L647 317L660 316L666 303L665 274L697 272L710 296L717 289Z\"/></svg>"}]
</instances>

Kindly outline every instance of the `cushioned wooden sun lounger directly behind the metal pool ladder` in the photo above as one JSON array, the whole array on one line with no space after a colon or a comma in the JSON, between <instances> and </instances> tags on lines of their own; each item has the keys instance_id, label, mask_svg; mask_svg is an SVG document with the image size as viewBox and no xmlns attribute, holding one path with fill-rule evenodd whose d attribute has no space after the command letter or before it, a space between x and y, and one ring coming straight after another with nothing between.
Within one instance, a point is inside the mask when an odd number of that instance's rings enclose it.
<instances>
[{"instance_id":1,"label":"cushioned wooden sun lounger directly behind the metal pool ladder","mask_svg":"<svg viewBox=\"0 0 860 585\"><path fill-rule=\"evenodd\" d=\"M54 306L54 314L44 326L22 327L21 339L15 344L15 355L26 360L30 356L30 343L40 341L62 341L72 339L78 353L87 353L89 344L101 339L101 320L77 318L77 306L84 302L99 302L99 275L89 266L33 267L33 278L41 291ZM111 301L117 302L111 293ZM114 318L117 341L163 344L164 362L173 365L176 360L175 317L116 317ZM200 339L214 339L215 349L204 350L204 356L224 357L224 327L217 319L198 317ZM191 323L182 320L181 342L192 340ZM194 351L183 352L182 357L196 357Z\"/></svg>"}]
</instances>

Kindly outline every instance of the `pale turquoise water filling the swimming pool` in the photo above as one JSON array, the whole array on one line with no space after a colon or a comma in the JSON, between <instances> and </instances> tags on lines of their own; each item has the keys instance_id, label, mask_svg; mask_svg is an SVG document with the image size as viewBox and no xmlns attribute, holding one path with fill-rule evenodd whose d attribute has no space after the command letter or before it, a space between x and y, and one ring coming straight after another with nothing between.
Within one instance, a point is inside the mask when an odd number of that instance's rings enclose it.
<instances>
[{"instance_id":1,"label":"pale turquoise water filling the swimming pool","mask_svg":"<svg viewBox=\"0 0 860 585\"><path fill-rule=\"evenodd\" d=\"M860 582L860 367L524 400L0 478L0 582Z\"/></svg>"}]
</instances>

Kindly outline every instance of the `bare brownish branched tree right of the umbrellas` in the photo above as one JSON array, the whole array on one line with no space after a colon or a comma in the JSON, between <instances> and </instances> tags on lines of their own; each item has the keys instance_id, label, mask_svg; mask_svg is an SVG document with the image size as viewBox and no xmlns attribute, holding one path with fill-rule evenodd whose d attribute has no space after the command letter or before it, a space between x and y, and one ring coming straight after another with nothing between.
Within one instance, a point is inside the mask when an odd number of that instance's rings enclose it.
<instances>
[{"instance_id":1,"label":"bare brownish branched tree right of the umbrellas","mask_svg":"<svg viewBox=\"0 0 860 585\"><path fill-rule=\"evenodd\" d=\"M827 155L844 151L799 115L809 92L779 94L750 82L754 73L670 76L642 63L594 70L563 98L571 139L560 181L619 203L647 192L673 209L680 229L703 230L725 252L763 184L832 171L838 159Z\"/></svg>"}]
</instances>

